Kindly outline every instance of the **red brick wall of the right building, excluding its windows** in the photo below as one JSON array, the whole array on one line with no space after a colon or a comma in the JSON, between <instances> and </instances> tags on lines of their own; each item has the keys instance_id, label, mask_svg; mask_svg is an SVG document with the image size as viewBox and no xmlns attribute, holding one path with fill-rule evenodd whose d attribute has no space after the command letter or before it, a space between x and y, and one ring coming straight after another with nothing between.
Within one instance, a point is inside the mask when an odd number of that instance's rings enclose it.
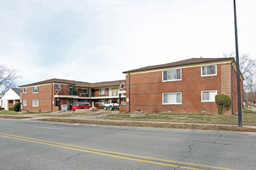
<instances>
[{"instance_id":1,"label":"red brick wall of the right building, excluding its windows","mask_svg":"<svg viewBox=\"0 0 256 170\"><path fill-rule=\"evenodd\" d=\"M201 76L201 66L182 69L182 80L162 82L162 71L130 74L130 111L172 113L206 113L217 114L215 102L201 102L202 90L217 90L217 93L231 95L230 63L217 65L217 76ZM229 75L222 75L222 71ZM182 92L182 104L162 104L162 93ZM129 75L126 75L126 98L129 97ZM126 100L126 106L129 106ZM124 107L120 112L126 111Z\"/></svg>"}]
</instances>

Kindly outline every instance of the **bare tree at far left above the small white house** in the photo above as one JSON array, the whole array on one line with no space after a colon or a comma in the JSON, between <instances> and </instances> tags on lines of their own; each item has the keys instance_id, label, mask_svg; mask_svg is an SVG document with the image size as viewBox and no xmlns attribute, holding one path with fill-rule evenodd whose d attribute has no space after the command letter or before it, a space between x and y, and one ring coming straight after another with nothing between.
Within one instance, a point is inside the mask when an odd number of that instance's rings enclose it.
<instances>
[{"instance_id":1,"label":"bare tree at far left above the small white house","mask_svg":"<svg viewBox=\"0 0 256 170\"><path fill-rule=\"evenodd\" d=\"M16 69L9 69L5 65L0 65L0 95L11 87L17 87L16 79L18 76L16 76L16 73Z\"/></svg>"}]
</instances>

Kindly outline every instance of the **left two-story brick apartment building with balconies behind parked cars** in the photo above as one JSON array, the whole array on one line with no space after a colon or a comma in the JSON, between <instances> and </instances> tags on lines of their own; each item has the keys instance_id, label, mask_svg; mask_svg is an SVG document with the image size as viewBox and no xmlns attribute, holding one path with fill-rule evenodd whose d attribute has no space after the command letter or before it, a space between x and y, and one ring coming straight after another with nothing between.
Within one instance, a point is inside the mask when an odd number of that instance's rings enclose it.
<instances>
[{"instance_id":1,"label":"left two-story brick apartment building with balconies behind parked cars","mask_svg":"<svg viewBox=\"0 0 256 170\"><path fill-rule=\"evenodd\" d=\"M73 80L50 79L29 83L21 88L23 110L50 112L61 110L62 104L67 109L76 101L94 102L95 107L103 108L108 100L119 100L119 84L125 80L88 83ZM72 88L77 93L72 93ZM120 95L121 104L125 104L125 96Z\"/></svg>"}]
</instances>

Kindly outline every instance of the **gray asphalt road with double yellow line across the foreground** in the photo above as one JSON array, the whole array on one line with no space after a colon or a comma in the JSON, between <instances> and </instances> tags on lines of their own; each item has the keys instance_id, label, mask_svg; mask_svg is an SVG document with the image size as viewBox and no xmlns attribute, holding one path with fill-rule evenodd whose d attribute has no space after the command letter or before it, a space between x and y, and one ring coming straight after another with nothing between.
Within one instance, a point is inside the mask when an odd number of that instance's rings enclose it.
<instances>
[{"instance_id":1,"label":"gray asphalt road with double yellow line across the foreground","mask_svg":"<svg viewBox=\"0 0 256 170\"><path fill-rule=\"evenodd\" d=\"M0 119L0 169L256 169L256 134Z\"/></svg>"}]
</instances>

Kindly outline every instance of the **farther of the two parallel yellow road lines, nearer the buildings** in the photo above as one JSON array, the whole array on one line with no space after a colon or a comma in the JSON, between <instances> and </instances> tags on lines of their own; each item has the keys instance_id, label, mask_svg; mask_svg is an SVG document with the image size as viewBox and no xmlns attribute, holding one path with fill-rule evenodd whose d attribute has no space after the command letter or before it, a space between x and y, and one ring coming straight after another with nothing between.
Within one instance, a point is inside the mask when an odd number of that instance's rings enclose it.
<instances>
[{"instance_id":1,"label":"farther of the two parallel yellow road lines, nearer the buildings","mask_svg":"<svg viewBox=\"0 0 256 170\"><path fill-rule=\"evenodd\" d=\"M150 158L150 157L145 157L145 156L140 156L140 155L124 154L124 153L119 153L119 152L115 152L115 151L105 151L105 150L95 149L95 148L87 148L87 147L81 147L81 146L76 146L76 145L62 144L62 143L58 143L58 142L54 142L54 141L44 141L44 140L35 139L35 138L26 138L26 137L16 136L16 135L12 135L12 134L3 134L3 133L0 133L0 134L11 136L11 137L30 139L30 140L34 140L34 141L43 141L43 142L47 142L47 143L51 143L51 144L71 146L71 147L75 147L75 148L85 148L85 149L89 149L89 150L92 150L92 151L102 151L102 152L112 153L112 154L117 154L117 155L126 155L126 156L132 156L132 157L137 157L137 158L147 158L147 159L156 160L156 161L172 162L172 163L179 163L179 164L185 164L185 165L195 165L195 166L201 166L201 167L204 167L204 168L217 168L217 169L224 169L224 170L234 170L233 168L221 168L221 167L216 167L216 166L199 165L199 164L193 164L193 163L188 163L188 162L176 162L176 161L171 161L171 160L161 159L161 158Z\"/></svg>"}]
</instances>

